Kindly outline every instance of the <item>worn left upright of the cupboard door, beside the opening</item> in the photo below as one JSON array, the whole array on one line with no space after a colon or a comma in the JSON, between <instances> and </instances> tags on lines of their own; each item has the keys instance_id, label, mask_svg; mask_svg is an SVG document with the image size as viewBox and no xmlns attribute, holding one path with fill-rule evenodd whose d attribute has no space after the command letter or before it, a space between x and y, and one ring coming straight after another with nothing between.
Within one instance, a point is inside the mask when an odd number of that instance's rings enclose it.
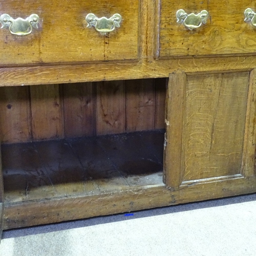
<instances>
[{"instance_id":1,"label":"worn left upright of the cupboard door, beside the opening","mask_svg":"<svg viewBox=\"0 0 256 256\"><path fill-rule=\"evenodd\" d=\"M169 75L165 102L166 137L164 142L164 183L177 189L181 184L182 117L187 76L184 72Z\"/></svg>"}]
</instances>

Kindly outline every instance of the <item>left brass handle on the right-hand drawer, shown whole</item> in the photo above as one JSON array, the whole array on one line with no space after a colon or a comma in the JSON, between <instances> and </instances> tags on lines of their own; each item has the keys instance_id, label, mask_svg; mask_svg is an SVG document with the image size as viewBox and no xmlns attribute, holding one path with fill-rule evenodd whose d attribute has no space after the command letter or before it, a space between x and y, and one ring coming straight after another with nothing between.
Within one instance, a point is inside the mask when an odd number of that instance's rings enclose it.
<instances>
[{"instance_id":1,"label":"left brass handle on the right-hand drawer, shown whole","mask_svg":"<svg viewBox=\"0 0 256 256\"><path fill-rule=\"evenodd\" d=\"M184 10L180 9L176 12L176 17L177 23L183 23L186 28L193 30L206 23L208 12L202 10L198 14L187 14Z\"/></svg>"}]
</instances>

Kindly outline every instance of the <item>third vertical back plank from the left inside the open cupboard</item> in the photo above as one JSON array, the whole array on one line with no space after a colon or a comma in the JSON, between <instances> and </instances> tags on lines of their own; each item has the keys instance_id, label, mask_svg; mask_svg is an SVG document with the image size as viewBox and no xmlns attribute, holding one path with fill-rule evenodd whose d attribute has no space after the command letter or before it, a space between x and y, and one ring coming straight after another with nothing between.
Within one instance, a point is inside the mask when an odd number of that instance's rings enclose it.
<instances>
[{"instance_id":1,"label":"third vertical back plank from the left inside the open cupboard","mask_svg":"<svg viewBox=\"0 0 256 256\"><path fill-rule=\"evenodd\" d=\"M95 133L93 83L63 84L62 87L65 137L93 136Z\"/></svg>"}]
</instances>

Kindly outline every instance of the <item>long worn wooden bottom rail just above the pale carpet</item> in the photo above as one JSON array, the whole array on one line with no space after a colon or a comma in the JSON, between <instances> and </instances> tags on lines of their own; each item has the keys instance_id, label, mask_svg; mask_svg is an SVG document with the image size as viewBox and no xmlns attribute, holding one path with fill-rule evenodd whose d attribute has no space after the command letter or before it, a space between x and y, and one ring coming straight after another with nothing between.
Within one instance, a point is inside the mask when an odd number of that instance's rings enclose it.
<instances>
[{"instance_id":1,"label":"long worn wooden bottom rail just above the pale carpet","mask_svg":"<svg viewBox=\"0 0 256 256\"><path fill-rule=\"evenodd\" d=\"M204 191L204 193L202 193ZM118 214L256 192L256 178L119 191L97 196L4 205L3 229Z\"/></svg>"}]
</instances>

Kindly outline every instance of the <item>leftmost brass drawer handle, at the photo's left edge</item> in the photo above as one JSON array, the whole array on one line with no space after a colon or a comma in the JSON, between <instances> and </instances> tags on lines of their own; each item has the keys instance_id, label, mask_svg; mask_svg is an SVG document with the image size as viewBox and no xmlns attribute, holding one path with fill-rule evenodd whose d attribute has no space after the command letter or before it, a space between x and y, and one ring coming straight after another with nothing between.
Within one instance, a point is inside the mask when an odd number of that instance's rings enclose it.
<instances>
[{"instance_id":1,"label":"leftmost brass drawer handle, at the photo's left edge","mask_svg":"<svg viewBox=\"0 0 256 256\"><path fill-rule=\"evenodd\" d=\"M4 13L0 16L1 28L8 28L13 35L29 35L32 28L38 28L39 17L37 14L31 14L26 19L12 18L9 14Z\"/></svg>"}]
</instances>

